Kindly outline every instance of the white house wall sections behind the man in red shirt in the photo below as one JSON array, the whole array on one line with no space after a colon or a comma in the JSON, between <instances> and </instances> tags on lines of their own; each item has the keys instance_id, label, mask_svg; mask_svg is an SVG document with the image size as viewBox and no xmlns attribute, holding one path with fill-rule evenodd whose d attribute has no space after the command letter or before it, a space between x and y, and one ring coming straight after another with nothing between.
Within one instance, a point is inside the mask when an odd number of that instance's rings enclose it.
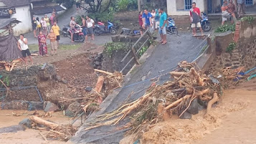
<instances>
[{"instance_id":1,"label":"white house wall sections behind the man in red shirt","mask_svg":"<svg viewBox=\"0 0 256 144\"><path fill-rule=\"evenodd\" d=\"M201 11L207 11L207 1L192 0ZM184 0L167 0L167 14L172 16L187 16L189 10L184 10Z\"/></svg>"}]
</instances>

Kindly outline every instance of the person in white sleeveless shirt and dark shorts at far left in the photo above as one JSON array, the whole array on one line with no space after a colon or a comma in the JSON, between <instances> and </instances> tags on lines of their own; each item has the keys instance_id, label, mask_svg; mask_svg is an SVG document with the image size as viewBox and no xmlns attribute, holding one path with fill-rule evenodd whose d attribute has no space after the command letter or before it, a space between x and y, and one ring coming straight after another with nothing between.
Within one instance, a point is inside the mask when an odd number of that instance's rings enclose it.
<instances>
[{"instance_id":1,"label":"person in white sleeveless shirt and dark shorts at far left","mask_svg":"<svg viewBox=\"0 0 256 144\"><path fill-rule=\"evenodd\" d=\"M33 64L31 53L29 52L29 46L27 45L27 39L24 38L23 34L19 35L18 47L22 51L22 57L23 57L22 59L24 60L26 65L27 65L27 57L29 57L30 62L32 62Z\"/></svg>"}]
</instances>

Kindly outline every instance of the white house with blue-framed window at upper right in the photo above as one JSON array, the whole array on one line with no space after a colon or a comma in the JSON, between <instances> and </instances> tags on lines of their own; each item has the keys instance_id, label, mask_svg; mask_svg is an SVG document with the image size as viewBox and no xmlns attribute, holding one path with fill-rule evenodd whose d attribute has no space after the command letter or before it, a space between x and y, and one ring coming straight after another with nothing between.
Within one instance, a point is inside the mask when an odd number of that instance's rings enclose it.
<instances>
[{"instance_id":1,"label":"white house with blue-framed window at upper right","mask_svg":"<svg viewBox=\"0 0 256 144\"><path fill-rule=\"evenodd\" d=\"M196 2L196 6L206 13L219 13L224 0L166 0L167 12L171 16L189 15L191 3ZM236 3L237 0L233 0ZM256 0L245 0L246 6L256 4Z\"/></svg>"}]
</instances>

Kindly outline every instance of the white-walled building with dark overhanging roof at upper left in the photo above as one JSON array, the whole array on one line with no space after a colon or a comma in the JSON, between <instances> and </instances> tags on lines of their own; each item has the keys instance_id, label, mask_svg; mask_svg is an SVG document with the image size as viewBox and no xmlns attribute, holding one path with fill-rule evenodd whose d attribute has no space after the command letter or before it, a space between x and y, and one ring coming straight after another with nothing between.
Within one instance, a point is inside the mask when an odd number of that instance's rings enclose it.
<instances>
[{"instance_id":1,"label":"white-walled building with dark overhanging roof at upper left","mask_svg":"<svg viewBox=\"0 0 256 144\"><path fill-rule=\"evenodd\" d=\"M58 14L65 11L48 0L0 0L0 23L1 19L16 18L21 22L14 27L14 35L25 34L32 31L33 16L39 19L44 14L50 16L52 9L56 9Z\"/></svg>"}]
</instances>

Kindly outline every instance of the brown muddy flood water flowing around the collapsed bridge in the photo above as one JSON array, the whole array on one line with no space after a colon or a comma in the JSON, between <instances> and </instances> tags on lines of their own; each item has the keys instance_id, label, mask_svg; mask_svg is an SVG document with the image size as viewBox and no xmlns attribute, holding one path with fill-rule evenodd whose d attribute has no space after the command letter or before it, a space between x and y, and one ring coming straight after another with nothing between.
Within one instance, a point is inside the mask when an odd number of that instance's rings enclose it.
<instances>
[{"instance_id":1,"label":"brown muddy flood water flowing around the collapsed bridge","mask_svg":"<svg viewBox=\"0 0 256 144\"><path fill-rule=\"evenodd\" d=\"M17 112L22 116L14 116ZM32 115L34 111L24 110L0 110L0 128L18 125L24 118ZM148 137L148 143L169 144L252 144L256 143L256 81L225 90L222 100L216 108L212 109L213 117L204 119L204 110L191 120L172 120L159 123L149 130L144 136ZM59 124L68 124L72 120L63 116L62 112L54 112L52 117L45 117ZM207 121L207 122L206 122ZM178 128L179 127L179 128ZM156 134L161 130L161 135ZM17 133L1 133L0 143L17 144L46 144L47 142L39 133L47 133L46 130L18 131ZM158 132L157 132L158 133ZM157 140L153 140L154 137ZM65 143L57 140L49 140L49 143ZM130 141L131 143L131 141Z\"/></svg>"}]
</instances>

